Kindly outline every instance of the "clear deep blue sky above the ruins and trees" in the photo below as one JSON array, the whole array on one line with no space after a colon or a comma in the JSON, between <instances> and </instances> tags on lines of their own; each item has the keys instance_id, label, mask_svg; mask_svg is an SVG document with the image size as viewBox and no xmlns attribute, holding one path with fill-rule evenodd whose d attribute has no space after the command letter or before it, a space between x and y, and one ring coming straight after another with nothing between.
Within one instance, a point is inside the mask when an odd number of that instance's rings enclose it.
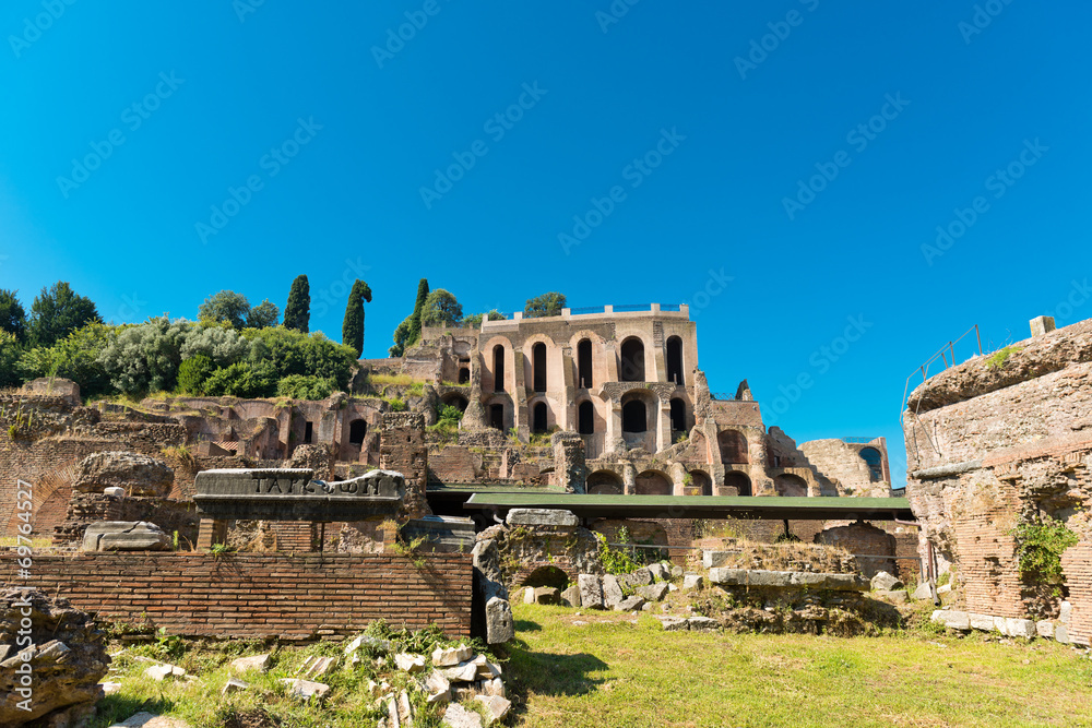
<instances>
[{"instance_id":1,"label":"clear deep blue sky above the ruins and trees","mask_svg":"<svg viewBox=\"0 0 1092 728\"><path fill-rule=\"evenodd\" d=\"M1088 3L254 1L4 3L0 286L122 322L306 273L336 336L361 277L369 357L420 277L688 301L714 390L894 470L941 345L1092 315Z\"/></svg>"}]
</instances>

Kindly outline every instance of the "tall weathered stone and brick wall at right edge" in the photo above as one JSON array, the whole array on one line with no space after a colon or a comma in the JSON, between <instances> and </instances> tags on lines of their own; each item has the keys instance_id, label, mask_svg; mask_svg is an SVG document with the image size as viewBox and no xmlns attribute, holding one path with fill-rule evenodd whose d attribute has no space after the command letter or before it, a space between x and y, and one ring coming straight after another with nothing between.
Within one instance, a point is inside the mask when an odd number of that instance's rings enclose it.
<instances>
[{"instance_id":1,"label":"tall weathered stone and brick wall at right edge","mask_svg":"<svg viewBox=\"0 0 1092 728\"><path fill-rule=\"evenodd\" d=\"M1051 618L1068 592L1075 622L1089 619L1088 561L1073 556L1092 539L1089 413L1092 321L975 357L911 394L907 496L923 556L931 546L941 569L954 566L969 612ZM1080 539L1063 584L1020 572L1014 529L1044 518Z\"/></svg>"}]
</instances>

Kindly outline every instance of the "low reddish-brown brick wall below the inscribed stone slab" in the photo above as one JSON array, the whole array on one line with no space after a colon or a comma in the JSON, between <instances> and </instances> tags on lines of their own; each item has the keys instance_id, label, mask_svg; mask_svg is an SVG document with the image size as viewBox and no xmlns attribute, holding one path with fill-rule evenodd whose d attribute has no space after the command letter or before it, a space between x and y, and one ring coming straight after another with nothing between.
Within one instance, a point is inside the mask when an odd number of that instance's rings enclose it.
<instances>
[{"instance_id":1,"label":"low reddish-brown brick wall below the inscribed stone slab","mask_svg":"<svg viewBox=\"0 0 1092 728\"><path fill-rule=\"evenodd\" d=\"M36 556L32 577L17 583L59 594L102 621L146 614L156 629L186 636L313 640L354 634L380 618L470 636L471 556L423 558L418 571L390 553ZM0 573L14 576L14 559L0 562Z\"/></svg>"}]
</instances>

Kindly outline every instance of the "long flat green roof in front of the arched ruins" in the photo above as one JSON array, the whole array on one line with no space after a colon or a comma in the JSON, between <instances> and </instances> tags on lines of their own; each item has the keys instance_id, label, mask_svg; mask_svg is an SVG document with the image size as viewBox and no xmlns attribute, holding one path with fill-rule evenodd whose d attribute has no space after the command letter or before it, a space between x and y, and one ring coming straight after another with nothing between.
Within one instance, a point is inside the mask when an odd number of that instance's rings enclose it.
<instances>
[{"instance_id":1,"label":"long flat green roof in front of the arched ruins","mask_svg":"<svg viewBox=\"0 0 1092 728\"><path fill-rule=\"evenodd\" d=\"M498 512L514 508L563 509L585 518L915 520L905 498L586 496L490 491L474 493L464 508Z\"/></svg>"}]
</instances>

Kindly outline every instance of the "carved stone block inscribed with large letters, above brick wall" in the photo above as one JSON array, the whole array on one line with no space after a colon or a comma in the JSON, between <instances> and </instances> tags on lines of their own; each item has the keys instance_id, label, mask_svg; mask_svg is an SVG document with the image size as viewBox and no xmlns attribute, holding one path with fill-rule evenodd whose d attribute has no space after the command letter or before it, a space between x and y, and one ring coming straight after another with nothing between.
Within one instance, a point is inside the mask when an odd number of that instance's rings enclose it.
<instances>
[{"instance_id":1,"label":"carved stone block inscribed with large letters, above brick wall","mask_svg":"<svg viewBox=\"0 0 1092 728\"><path fill-rule=\"evenodd\" d=\"M371 470L331 482L295 468L203 470L193 500L209 518L330 522L393 516L405 498L400 473Z\"/></svg>"}]
</instances>

